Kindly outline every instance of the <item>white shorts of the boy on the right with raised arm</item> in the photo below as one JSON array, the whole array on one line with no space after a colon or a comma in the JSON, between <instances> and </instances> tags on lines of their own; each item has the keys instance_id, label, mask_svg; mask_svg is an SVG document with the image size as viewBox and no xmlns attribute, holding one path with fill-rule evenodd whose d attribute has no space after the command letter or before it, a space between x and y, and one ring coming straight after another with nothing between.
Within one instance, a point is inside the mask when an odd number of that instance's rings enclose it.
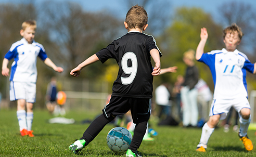
<instances>
[{"instance_id":1,"label":"white shorts of the boy on the right with raised arm","mask_svg":"<svg viewBox=\"0 0 256 157\"><path fill-rule=\"evenodd\" d=\"M215 99L212 101L209 116L220 114L220 120L224 120L231 107L233 107L238 113L242 108L251 109L249 101L246 97L235 99Z\"/></svg>"}]
</instances>

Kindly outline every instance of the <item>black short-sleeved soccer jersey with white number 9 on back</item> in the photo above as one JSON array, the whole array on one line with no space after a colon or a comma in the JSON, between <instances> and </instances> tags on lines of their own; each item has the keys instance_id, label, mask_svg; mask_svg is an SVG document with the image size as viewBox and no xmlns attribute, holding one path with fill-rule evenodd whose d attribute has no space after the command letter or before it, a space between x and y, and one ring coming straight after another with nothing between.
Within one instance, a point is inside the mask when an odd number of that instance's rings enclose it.
<instances>
[{"instance_id":1,"label":"black short-sleeved soccer jersey with white number 9 on back","mask_svg":"<svg viewBox=\"0 0 256 157\"><path fill-rule=\"evenodd\" d=\"M119 65L112 96L152 98L153 67L149 51L153 48L158 49L152 36L130 31L96 53L102 63L114 58Z\"/></svg>"}]
</instances>

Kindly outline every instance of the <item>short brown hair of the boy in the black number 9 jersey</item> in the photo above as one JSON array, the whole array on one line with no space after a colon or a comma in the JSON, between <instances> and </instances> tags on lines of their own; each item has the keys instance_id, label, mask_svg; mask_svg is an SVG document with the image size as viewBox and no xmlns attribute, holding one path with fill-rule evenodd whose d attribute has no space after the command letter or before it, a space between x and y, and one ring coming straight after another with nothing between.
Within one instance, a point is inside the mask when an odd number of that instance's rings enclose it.
<instances>
[{"instance_id":1,"label":"short brown hair of the boy in the black number 9 jersey","mask_svg":"<svg viewBox=\"0 0 256 157\"><path fill-rule=\"evenodd\" d=\"M147 11L142 6L135 5L127 12L125 22L129 29L142 28L148 23Z\"/></svg>"}]
</instances>

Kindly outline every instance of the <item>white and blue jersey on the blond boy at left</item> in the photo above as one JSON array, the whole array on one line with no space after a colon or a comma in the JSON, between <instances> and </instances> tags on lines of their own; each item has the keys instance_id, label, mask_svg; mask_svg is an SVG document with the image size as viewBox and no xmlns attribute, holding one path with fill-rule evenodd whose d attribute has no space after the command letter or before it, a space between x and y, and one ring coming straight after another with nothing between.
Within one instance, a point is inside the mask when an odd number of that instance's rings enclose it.
<instances>
[{"instance_id":1,"label":"white and blue jersey on the blond boy at left","mask_svg":"<svg viewBox=\"0 0 256 157\"><path fill-rule=\"evenodd\" d=\"M33 41L29 44L25 38L11 45L5 58L14 62L11 64L10 81L36 83L37 56L42 60L47 58L43 45Z\"/></svg>"}]
</instances>

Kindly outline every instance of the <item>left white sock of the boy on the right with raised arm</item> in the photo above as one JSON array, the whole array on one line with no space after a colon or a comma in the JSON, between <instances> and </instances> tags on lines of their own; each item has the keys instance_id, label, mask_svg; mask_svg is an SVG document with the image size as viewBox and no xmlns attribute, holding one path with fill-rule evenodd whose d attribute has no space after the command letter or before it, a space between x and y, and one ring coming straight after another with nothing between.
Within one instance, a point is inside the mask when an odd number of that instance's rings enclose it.
<instances>
[{"instance_id":1,"label":"left white sock of the boy on the right with raised arm","mask_svg":"<svg viewBox=\"0 0 256 157\"><path fill-rule=\"evenodd\" d=\"M214 129L215 128L210 128L207 123L203 125L200 142L197 145L197 147L203 146L203 148L207 148L208 140L211 137Z\"/></svg>"}]
</instances>

